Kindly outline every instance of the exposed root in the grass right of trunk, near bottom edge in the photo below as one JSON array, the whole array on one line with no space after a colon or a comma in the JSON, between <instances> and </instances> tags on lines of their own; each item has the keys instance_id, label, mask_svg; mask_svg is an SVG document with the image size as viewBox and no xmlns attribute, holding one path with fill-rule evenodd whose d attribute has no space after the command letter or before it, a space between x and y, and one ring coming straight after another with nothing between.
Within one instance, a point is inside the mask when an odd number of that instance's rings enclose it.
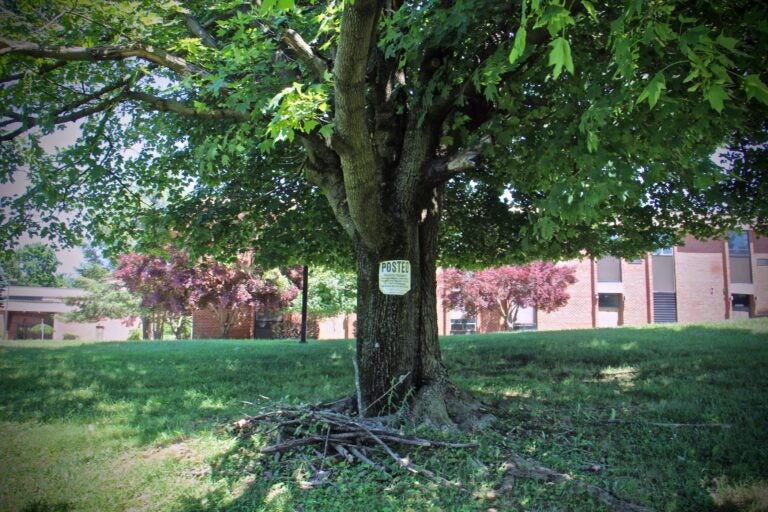
<instances>
[{"instance_id":1,"label":"exposed root in the grass right of trunk, near bottom edge","mask_svg":"<svg viewBox=\"0 0 768 512\"><path fill-rule=\"evenodd\" d=\"M615 494L598 487L597 485L582 482L567 473L559 473L549 469L539 462L514 455L509 462L504 464L504 479L499 486L499 493L509 493L515 485L516 478L529 478L547 482L569 482L571 485L587 492L613 510L619 512L650 512L651 509L625 501Z\"/></svg>"}]
</instances>

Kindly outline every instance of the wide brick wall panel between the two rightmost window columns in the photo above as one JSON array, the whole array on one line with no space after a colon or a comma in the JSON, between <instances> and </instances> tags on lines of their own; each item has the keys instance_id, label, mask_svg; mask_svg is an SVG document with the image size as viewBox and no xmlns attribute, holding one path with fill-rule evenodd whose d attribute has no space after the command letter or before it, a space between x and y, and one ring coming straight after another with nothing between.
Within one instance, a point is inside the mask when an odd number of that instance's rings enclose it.
<instances>
[{"instance_id":1,"label":"wide brick wall panel between the two rightmost window columns","mask_svg":"<svg viewBox=\"0 0 768 512\"><path fill-rule=\"evenodd\" d=\"M716 245L720 247L719 252L714 250ZM675 254L677 321L724 320L725 242L698 242L696 246L706 252L691 252L692 246L686 240L686 250L678 250Z\"/></svg>"}]
</instances>

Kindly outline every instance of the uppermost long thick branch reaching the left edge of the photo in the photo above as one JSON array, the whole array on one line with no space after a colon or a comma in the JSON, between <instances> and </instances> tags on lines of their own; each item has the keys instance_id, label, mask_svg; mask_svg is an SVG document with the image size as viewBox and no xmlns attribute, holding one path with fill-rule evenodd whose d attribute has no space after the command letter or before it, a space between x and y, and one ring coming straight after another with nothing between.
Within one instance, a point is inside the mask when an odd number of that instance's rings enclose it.
<instances>
[{"instance_id":1,"label":"uppermost long thick branch reaching the left edge of the photo","mask_svg":"<svg viewBox=\"0 0 768 512\"><path fill-rule=\"evenodd\" d=\"M164 66L180 75L206 73L186 60L149 45L43 47L29 41L0 38L0 56L24 55L62 61L110 61L137 57Z\"/></svg>"}]
</instances>

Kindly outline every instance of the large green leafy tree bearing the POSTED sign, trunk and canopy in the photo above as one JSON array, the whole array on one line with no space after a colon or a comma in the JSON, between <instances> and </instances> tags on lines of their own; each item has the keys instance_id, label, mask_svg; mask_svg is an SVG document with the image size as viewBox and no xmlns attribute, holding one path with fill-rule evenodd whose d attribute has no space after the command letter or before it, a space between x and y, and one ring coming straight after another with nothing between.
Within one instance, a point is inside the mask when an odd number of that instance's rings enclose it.
<instances>
[{"instance_id":1,"label":"large green leafy tree bearing the POSTED sign, trunk and canopy","mask_svg":"<svg viewBox=\"0 0 768 512\"><path fill-rule=\"evenodd\" d=\"M0 239L90 228L115 248L132 234L355 261L369 414L412 397L425 419L472 416L441 362L439 257L621 255L765 228L759 3L2 5L0 160L32 172L3 199L16 215ZM70 121L78 143L47 156L41 134ZM735 163L716 165L718 148ZM57 208L83 213L27 215ZM386 260L410 262L408 293L379 291Z\"/></svg>"}]
</instances>

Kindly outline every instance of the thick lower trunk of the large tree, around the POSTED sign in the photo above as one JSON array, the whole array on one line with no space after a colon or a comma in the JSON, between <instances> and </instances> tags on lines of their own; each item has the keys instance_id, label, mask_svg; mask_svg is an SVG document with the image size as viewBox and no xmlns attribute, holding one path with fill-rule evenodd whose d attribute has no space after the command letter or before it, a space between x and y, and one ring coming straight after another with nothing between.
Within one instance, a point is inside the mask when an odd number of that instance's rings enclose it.
<instances>
[{"instance_id":1,"label":"thick lower trunk of the large tree, around the POSTED sign","mask_svg":"<svg viewBox=\"0 0 768 512\"><path fill-rule=\"evenodd\" d=\"M437 212L402 226L380 252L358 244L357 363L363 415L410 412L417 422L470 429L480 404L448 379L437 330ZM411 263L411 290L385 295L379 264Z\"/></svg>"}]
</instances>

